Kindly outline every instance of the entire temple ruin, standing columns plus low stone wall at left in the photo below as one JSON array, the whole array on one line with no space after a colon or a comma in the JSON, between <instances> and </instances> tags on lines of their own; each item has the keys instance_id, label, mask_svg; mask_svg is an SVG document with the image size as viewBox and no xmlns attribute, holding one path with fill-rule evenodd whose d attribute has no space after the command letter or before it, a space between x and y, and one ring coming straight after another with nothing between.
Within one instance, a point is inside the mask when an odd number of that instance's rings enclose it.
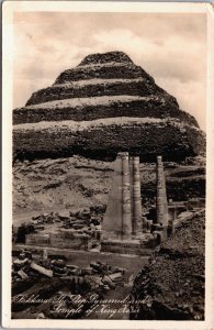
<instances>
[{"instance_id":1,"label":"entire temple ruin, standing columns plus low stone wall at left","mask_svg":"<svg viewBox=\"0 0 214 330\"><path fill-rule=\"evenodd\" d=\"M54 232L29 233L25 243L85 251L101 244L99 251L103 253L150 255L161 240L173 232L173 215L178 208L168 206L161 156L157 157L156 178L156 217L147 219L142 208L139 156L121 152L115 160L112 190L102 230L91 230L90 226L82 230L82 221L88 221L90 216L85 211L80 217L82 220L68 218L67 228L59 228Z\"/></svg>"}]
</instances>

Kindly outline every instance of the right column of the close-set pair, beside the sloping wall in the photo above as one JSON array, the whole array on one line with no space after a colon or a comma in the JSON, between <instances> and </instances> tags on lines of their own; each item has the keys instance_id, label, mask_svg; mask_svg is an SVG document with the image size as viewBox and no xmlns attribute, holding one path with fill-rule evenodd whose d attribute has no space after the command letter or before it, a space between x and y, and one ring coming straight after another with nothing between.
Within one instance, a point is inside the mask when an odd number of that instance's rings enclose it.
<instances>
[{"instance_id":1,"label":"right column of the close-set pair, beside the sloping wall","mask_svg":"<svg viewBox=\"0 0 214 330\"><path fill-rule=\"evenodd\" d=\"M133 235L142 234L139 156L133 158Z\"/></svg>"}]
</instances>

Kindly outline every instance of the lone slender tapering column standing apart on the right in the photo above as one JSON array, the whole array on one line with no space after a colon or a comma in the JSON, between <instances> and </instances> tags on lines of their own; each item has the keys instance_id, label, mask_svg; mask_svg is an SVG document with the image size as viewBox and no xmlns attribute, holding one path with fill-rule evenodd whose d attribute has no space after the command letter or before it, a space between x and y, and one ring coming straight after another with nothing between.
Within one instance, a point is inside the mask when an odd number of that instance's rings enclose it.
<instances>
[{"instance_id":1,"label":"lone slender tapering column standing apart on the right","mask_svg":"<svg viewBox=\"0 0 214 330\"><path fill-rule=\"evenodd\" d=\"M166 180L162 165L162 157L157 157L157 222L162 223L164 227L168 226L168 204L166 193Z\"/></svg>"}]
</instances>

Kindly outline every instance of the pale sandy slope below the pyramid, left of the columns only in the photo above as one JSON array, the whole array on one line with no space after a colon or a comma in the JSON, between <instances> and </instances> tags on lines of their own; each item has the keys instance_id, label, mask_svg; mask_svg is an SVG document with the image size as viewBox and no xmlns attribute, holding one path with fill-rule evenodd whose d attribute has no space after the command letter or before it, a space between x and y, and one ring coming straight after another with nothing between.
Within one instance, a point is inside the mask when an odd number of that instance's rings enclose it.
<instances>
[{"instance_id":1,"label":"pale sandy slope below the pyramid, left of the columns only","mask_svg":"<svg viewBox=\"0 0 214 330\"><path fill-rule=\"evenodd\" d=\"M82 211L106 205L113 164L72 158L16 162L13 167L14 223L23 212Z\"/></svg>"}]
</instances>

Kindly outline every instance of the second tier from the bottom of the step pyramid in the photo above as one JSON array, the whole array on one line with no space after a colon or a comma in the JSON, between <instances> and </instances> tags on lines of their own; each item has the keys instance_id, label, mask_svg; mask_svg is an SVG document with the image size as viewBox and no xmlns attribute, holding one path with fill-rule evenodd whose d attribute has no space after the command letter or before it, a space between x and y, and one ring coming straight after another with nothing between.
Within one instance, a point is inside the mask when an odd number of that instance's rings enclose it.
<instances>
[{"instance_id":1,"label":"second tier from the bottom of the step pyramid","mask_svg":"<svg viewBox=\"0 0 214 330\"><path fill-rule=\"evenodd\" d=\"M101 118L176 118L198 127L195 119L161 96L109 96L44 102L13 111L13 123L94 120Z\"/></svg>"}]
</instances>

